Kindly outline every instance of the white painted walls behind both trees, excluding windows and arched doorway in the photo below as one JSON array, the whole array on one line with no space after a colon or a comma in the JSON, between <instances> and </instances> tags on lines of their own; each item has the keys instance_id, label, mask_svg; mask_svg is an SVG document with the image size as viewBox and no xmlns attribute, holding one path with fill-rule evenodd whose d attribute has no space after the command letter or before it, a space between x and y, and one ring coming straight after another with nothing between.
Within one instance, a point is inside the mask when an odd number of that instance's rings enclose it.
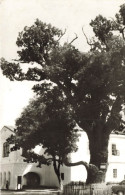
<instances>
[{"instance_id":1,"label":"white painted walls behind both trees, excluding windows and arched doorway","mask_svg":"<svg viewBox=\"0 0 125 195\"><path fill-rule=\"evenodd\" d=\"M58 186L57 176L54 172L53 165L37 168L36 164L27 164L23 162L21 156L22 150L14 151L9 154L9 157L2 157L3 143L12 134L11 131L5 127L0 132L0 183L1 188L5 189L5 175L6 180L8 179L9 172L11 173L10 189L17 189L17 177L24 176L28 172L35 172L41 178L40 185L43 186ZM80 132L81 137L77 143L78 151L71 154L72 162L90 160L89 153L89 141L85 132ZM120 151L119 156L112 155L112 144L116 144L116 149ZM125 178L125 135L111 134L109 140L109 157L108 157L108 170L106 173L106 182L119 182ZM38 154L43 153L43 149L40 146L35 148L35 152ZM113 178L113 169L117 169L117 178ZM84 166L76 167L61 167L61 173L64 173L64 184L70 181L86 181L87 172ZM25 185L23 180L22 185Z\"/></svg>"}]
</instances>

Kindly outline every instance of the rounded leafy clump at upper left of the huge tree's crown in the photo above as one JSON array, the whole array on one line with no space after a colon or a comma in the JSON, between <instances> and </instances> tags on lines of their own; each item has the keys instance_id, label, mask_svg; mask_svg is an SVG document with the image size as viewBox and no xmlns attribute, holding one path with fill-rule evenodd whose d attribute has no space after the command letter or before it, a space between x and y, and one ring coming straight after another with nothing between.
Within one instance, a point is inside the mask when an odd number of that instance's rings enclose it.
<instances>
[{"instance_id":1,"label":"rounded leafy clump at upper left of the huge tree's crown","mask_svg":"<svg viewBox=\"0 0 125 195\"><path fill-rule=\"evenodd\" d=\"M25 27L24 31L19 33L16 42L21 48L18 51L19 60L27 63L45 63L49 53L58 45L57 40L61 35L61 30L37 19L34 25Z\"/></svg>"}]
</instances>

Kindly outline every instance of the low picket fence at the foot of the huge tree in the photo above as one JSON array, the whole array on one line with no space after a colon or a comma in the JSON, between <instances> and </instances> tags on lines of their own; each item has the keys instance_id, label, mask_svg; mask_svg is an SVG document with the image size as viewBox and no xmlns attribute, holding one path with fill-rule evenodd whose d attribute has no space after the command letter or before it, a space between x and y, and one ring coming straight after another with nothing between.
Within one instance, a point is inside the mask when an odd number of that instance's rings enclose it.
<instances>
[{"instance_id":1,"label":"low picket fence at the foot of the huge tree","mask_svg":"<svg viewBox=\"0 0 125 195\"><path fill-rule=\"evenodd\" d=\"M83 182L72 182L64 186L63 195L111 195L111 187L105 184L85 185Z\"/></svg>"}]
</instances>

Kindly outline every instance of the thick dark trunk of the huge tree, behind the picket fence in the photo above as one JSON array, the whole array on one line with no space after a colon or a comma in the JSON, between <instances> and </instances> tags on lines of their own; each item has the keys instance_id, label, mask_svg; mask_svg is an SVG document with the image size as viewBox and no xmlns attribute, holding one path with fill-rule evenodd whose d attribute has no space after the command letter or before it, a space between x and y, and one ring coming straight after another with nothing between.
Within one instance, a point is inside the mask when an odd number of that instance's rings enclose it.
<instances>
[{"instance_id":1,"label":"thick dark trunk of the huge tree, behind the picket fence","mask_svg":"<svg viewBox=\"0 0 125 195\"><path fill-rule=\"evenodd\" d=\"M109 133L102 128L94 129L93 133L88 134L90 149L90 164L98 168L98 172L91 168L88 170L87 183L100 183L105 181L108 163L108 141ZM103 165L103 167L101 167ZM105 167L105 168L104 168Z\"/></svg>"}]
</instances>

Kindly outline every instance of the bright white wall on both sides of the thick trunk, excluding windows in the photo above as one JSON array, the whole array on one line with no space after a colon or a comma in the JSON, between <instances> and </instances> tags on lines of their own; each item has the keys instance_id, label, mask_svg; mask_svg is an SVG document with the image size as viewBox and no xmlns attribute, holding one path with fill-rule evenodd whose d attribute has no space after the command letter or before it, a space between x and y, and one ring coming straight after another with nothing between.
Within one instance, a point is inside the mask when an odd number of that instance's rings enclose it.
<instances>
[{"instance_id":1,"label":"bright white wall on both sides of the thick trunk, excluding windows","mask_svg":"<svg viewBox=\"0 0 125 195\"><path fill-rule=\"evenodd\" d=\"M112 144L116 145L118 155L112 155ZM89 163L89 140L85 132L81 132L78 142L78 151L71 155L72 162L83 160ZM114 170L117 175L114 177ZM86 181L87 171L81 165L71 168L72 181ZM125 135L111 134L108 145L108 168L106 172L105 182L120 182L125 179Z\"/></svg>"}]
</instances>

